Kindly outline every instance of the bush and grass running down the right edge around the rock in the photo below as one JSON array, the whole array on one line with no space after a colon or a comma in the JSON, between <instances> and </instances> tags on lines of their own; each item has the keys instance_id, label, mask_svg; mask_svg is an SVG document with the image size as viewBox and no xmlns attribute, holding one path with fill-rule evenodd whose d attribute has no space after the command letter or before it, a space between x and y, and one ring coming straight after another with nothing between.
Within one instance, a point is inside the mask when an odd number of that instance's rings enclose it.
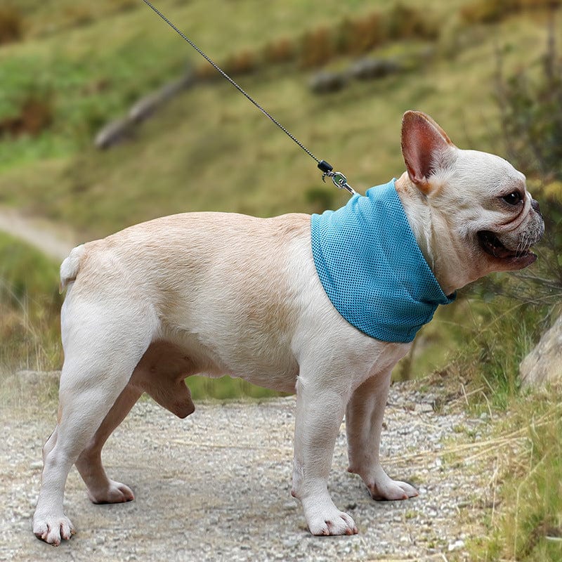
<instances>
[{"instance_id":1,"label":"bush and grass running down the right edge around the rock","mask_svg":"<svg viewBox=\"0 0 562 562\"><path fill-rule=\"evenodd\" d=\"M450 365L467 388L482 389L485 404L476 398L473 405L490 415L510 411L496 433L511 446L491 453L500 470L493 492L501 507L499 513L492 509L487 536L471 542L476 561L562 559L562 385L522 393L518 377L521 360L562 313L562 57L556 15L544 53L532 64L507 74L497 55L496 98L507 155L527 174L546 223L540 261L529 271L495 275L473 287L495 299L481 329Z\"/></svg>"}]
</instances>

